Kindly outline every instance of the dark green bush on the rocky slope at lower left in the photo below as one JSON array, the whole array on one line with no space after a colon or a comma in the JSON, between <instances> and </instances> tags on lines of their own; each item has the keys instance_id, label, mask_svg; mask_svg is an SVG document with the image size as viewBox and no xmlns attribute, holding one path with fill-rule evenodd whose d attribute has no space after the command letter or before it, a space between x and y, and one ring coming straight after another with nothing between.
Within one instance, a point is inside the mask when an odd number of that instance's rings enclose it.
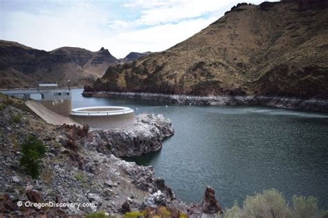
<instances>
[{"instance_id":1,"label":"dark green bush on the rocky slope at lower left","mask_svg":"<svg viewBox=\"0 0 328 218\"><path fill-rule=\"evenodd\" d=\"M39 177L39 169L42 163L41 158L46 153L46 147L41 140L35 136L28 136L23 144L21 144L22 156L19 163L26 174L33 179Z\"/></svg>"}]
</instances>

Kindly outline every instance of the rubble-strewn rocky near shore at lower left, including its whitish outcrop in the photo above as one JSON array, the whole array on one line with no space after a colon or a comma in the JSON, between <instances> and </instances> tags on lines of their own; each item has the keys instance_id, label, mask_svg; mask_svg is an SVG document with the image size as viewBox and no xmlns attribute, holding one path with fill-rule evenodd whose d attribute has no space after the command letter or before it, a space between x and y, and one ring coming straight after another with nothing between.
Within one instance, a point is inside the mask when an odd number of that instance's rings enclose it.
<instances>
[{"instance_id":1,"label":"rubble-strewn rocky near shore at lower left, including its whitish outcrop","mask_svg":"<svg viewBox=\"0 0 328 218\"><path fill-rule=\"evenodd\" d=\"M13 104L1 109L0 130L0 214L5 217L83 217L95 211L115 217L130 211L215 217L221 212L212 188L206 188L201 203L188 205L176 199L151 166L138 166L116 157L161 149L161 140L174 134L170 120L163 116L142 114L132 127L100 131L86 126L49 125L28 109ZM20 145L29 135L46 146L39 179L32 179L19 165ZM20 201L92 205L19 207Z\"/></svg>"}]
</instances>

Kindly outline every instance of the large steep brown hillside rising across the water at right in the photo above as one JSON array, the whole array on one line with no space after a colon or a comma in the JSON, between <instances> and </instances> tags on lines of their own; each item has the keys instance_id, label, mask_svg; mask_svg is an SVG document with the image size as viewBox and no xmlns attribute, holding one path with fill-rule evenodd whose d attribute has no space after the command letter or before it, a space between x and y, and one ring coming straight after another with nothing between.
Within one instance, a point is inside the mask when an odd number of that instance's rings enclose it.
<instances>
[{"instance_id":1,"label":"large steep brown hillside rising across the water at right","mask_svg":"<svg viewBox=\"0 0 328 218\"><path fill-rule=\"evenodd\" d=\"M85 91L327 98L327 23L327 1L240 3L167 51L109 66Z\"/></svg>"}]
</instances>

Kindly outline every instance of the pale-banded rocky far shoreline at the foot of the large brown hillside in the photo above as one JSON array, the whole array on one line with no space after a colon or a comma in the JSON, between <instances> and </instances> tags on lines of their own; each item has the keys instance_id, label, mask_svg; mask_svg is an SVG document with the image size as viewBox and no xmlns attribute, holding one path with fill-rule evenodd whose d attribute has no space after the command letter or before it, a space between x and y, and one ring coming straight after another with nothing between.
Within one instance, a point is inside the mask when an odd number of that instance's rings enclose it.
<instances>
[{"instance_id":1,"label":"pale-banded rocky far shoreline at the foot of the large brown hillside","mask_svg":"<svg viewBox=\"0 0 328 218\"><path fill-rule=\"evenodd\" d=\"M328 112L328 100L320 98L288 98L279 96L186 96L169 95L162 93L134 93L134 92L86 92L84 97L99 98L125 98L137 100L154 100L183 105L249 105L267 106L284 109L295 109L304 111Z\"/></svg>"}]
</instances>

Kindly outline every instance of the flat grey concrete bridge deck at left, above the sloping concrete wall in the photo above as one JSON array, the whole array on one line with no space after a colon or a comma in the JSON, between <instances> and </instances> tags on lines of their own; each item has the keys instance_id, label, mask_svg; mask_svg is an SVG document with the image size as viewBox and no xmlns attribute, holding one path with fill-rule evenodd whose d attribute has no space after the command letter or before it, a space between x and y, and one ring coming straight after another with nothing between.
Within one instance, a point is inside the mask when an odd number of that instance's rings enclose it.
<instances>
[{"instance_id":1,"label":"flat grey concrete bridge deck at left, above the sloping concrete wall","mask_svg":"<svg viewBox=\"0 0 328 218\"><path fill-rule=\"evenodd\" d=\"M72 97L71 89L65 88L0 89L0 93L23 100L30 100L32 94L40 94L42 100L71 100Z\"/></svg>"}]
</instances>

